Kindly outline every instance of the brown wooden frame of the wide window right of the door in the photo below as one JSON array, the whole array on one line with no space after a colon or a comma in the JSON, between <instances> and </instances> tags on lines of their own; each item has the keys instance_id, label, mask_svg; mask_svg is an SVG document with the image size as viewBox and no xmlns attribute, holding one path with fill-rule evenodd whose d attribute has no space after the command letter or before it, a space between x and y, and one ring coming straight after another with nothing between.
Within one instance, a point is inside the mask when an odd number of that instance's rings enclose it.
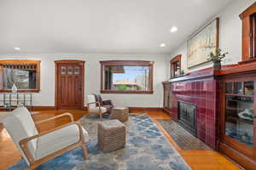
<instances>
[{"instance_id":1,"label":"brown wooden frame of the wide window right of the door","mask_svg":"<svg viewBox=\"0 0 256 170\"><path fill-rule=\"evenodd\" d=\"M154 94L154 61L145 60L106 60L100 61L101 64L101 94ZM105 90L104 89L104 67L106 65L147 65L149 66L149 90Z\"/></svg>"}]
</instances>

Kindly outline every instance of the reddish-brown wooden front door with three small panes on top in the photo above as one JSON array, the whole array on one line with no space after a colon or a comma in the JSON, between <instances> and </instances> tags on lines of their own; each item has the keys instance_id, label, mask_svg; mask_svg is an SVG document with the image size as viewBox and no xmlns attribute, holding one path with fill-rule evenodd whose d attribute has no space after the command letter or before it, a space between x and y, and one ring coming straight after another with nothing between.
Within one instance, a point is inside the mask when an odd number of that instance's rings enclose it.
<instances>
[{"instance_id":1,"label":"reddish-brown wooden front door with three small panes on top","mask_svg":"<svg viewBox=\"0 0 256 170\"><path fill-rule=\"evenodd\" d=\"M55 61L55 108L84 109L84 61Z\"/></svg>"}]
</instances>

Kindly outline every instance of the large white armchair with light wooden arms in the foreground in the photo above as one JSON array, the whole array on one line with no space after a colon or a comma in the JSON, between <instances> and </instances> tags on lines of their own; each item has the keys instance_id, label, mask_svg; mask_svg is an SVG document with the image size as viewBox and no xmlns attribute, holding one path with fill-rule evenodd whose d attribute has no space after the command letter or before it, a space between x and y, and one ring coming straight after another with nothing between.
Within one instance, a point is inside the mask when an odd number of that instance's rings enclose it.
<instances>
[{"instance_id":1,"label":"large white armchair with light wooden arms in the foreground","mask_svg":"<svg viewBox=\"0 0 256 170\"><path fill-rule=\"evenodd\" d=\"M35 124L48 122L61 116L69 116L71 122L38 133ZM33 122L30 112L25 107L21 107L5 117L3 125L14 140L17 149L20 150L21 156L28 165L28 170L33 170L45 161L49 161L76 147L82 147L84 158L88 159L85 146L85 142L89 140L88 133L79 122L73 122L73 116L70 113L64 113L40 122Z\"/></svg>"}]
</instances>

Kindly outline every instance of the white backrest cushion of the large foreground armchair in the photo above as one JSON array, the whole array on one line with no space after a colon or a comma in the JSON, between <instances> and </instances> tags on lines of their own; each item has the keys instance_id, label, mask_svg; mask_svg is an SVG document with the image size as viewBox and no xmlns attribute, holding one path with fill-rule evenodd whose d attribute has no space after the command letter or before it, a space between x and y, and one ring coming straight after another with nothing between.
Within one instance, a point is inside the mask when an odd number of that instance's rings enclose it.
<instances>
[{"instance_id":1,"label":"white backrest cushion of the large foreground armchair","mask_svg":"<svg viewBox=\"0 0 256 170\"><path fill-rule=\"evenodd\" d=\"M33 135L38 134L38 129L35 126L35 123L32 120L32 116L26 107L20 107L15 109L9 116L6 116L3 119L3 125L7 129L9 135L14 140L15 145L18 150L20 150L21 156L24 157L27 164L27 158L23 151L20 148L20 140L32 137ZM15 126L14 126L15 125ZM37 139L27 143L28 150L32 153L32 156L35 157L35 151L37 149Z\"/></svg>"}]
</instances>

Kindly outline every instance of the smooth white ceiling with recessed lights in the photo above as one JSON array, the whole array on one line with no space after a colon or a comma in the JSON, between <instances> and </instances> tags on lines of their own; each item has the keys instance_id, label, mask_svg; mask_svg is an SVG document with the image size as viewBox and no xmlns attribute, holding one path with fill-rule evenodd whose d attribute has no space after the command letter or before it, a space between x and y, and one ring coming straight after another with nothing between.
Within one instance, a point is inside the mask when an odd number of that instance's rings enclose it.
<instances>
[{"instance_id":1,"label":"smooth white ceiling with recessed lights","mask_svg":"<svg viewBox=\"0 0 256 170\"><path fill-rule=\"evenodd\" d=\"M0 54L170 54L230 1L0 0Z\"/></svg>"}]
</instances>

